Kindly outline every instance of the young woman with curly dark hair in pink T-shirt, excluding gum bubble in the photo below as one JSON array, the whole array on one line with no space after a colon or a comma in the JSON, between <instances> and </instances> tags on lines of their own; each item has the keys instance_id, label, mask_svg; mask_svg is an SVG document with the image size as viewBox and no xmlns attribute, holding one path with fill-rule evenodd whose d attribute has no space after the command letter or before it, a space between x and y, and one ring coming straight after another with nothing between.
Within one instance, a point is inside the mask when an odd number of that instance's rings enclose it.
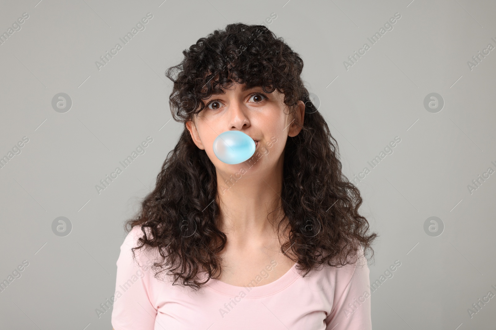
<instances>
[{"instance_id":1,"label":"young woman with curly dark hair in pink T-shirt, excluding gum bubble","mask_svg":"<svg viewBox=\"0 0 496 330\"><path fill-rule=\"evenodd\" d=\"M185 129L126 222L115 330L370 330L366 252L337 143L300 74L303 60L260 25L230 24L166 72ZM216 157L226 131L255 141Z\"/></svg>"}]
</instances>

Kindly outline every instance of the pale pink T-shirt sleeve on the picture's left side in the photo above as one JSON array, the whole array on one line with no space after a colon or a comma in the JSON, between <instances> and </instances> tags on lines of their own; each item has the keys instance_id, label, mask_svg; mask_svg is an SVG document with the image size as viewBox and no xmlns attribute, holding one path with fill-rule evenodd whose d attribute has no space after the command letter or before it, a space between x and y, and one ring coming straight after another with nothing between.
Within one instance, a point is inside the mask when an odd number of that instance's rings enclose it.
<instances>
[{"instance_id":1,"label":"pale pink T-shirt sleeve on the picture's left side","mask_svg":"<svg viewBox=\"0 0 496 330\"><path fill-rule=\"evenodd\" d=\"M157 309L153 305L150 288L151 278L147 265L150 261L143 253L144 248L134 251L137 239L142 236L141 226L134 227L121 245L117 260L116 291L112 310L112 327L115 330L154 330Z\"/></svg>"}]
</instances>

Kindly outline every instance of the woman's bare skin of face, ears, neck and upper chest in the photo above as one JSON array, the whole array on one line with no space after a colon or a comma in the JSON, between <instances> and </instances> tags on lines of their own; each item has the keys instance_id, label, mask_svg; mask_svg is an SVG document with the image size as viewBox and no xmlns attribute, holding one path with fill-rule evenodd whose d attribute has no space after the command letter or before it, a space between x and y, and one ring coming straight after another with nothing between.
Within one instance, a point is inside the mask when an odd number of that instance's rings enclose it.
<instances>
[{"instance_id":1,"label":"woman's bare skin of face, ears, neck and upper chest","mask_svg":"<svg viewBox=\"0 0 496 330\"><path fill-rule=\"evenodd\" d=\"M219 229L227 236L226 247L219 254L223 260L219 281L243 286L275 260L277 266L268 272L269 277L258 283L264 285L279 279L294 265L287 254L280 252L274 224L283 214L273 211L283 203L280 195L286 140L300 133L296 121L303 123L305 104L298 102L292 119L283 102L284 94L266 94L260 87L243 91L243 87L235 84L225 94L203 100L207 107L185 125L196 146L205 150L216 168ZM215 138L229 130L259 140L254 154L257 157L251 164L225 164L215 156ZM241 168L246 173L240 174ZM287 233L282 234L281 241L286 239Z\"/></svg>"}]
</instances>

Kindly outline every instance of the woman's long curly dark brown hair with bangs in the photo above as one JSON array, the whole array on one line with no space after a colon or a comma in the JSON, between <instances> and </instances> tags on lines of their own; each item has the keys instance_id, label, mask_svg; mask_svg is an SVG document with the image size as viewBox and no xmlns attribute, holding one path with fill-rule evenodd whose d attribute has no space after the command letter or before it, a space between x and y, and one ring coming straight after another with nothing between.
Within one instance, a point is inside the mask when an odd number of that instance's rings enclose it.
<instances>
[{"instance_id":1,"label":"woman's long curly dark brown hair with bangs","mask_svg":"<svg viewBox=\"0 0 496 330\"><path fill-rule=\"evenodd\" d=\"M174 82L169 104L178 122L191 121L206 106L202 100L234 83L261 87L265 93L277 89L291 115L299 100L305 102L303 125L298 123L302 130L285 145L284 217L277 226L279 236L286 219L284 233L289 237L281 252L299 264L303 276L320 265L354 263L359 249L373 256L377 234L368 233L369 223L358 212L362 197L341 171L337 142L300 78L303 60L298 53L265 26L236 23L198 39L183 54L183 61L165 73ZM218 253L227 236L218 229L217 194L216 169L185 127L162 165L155 189L124 224L126 232L141 226L143 236L133 255L145 245L157 248L162 259L152 266L157 279L166 269L173 284L181 279L193 289L209 278L218 279ZM200 282L199 273L208 274L207 280Z\"/></svg>"}]
</instances>

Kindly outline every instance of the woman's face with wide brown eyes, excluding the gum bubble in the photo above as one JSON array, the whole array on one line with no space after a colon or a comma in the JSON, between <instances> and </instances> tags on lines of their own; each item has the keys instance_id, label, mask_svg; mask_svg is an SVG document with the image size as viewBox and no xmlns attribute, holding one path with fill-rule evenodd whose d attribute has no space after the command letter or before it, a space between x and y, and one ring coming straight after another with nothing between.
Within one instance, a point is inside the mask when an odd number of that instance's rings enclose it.
<instances>
[{"instance_id":1,"label":"woman's face with wide brown eyes, excluding the gum bubble","mask_svg":"<svg viewBox=\"0 0 496 330\"><path fill-rule=\"evenodd\" d=\"M266 94L260 87L244 91L244 87L234 84L225 94L211 95L204 100L206 107L194 117L194 123L186 123L196 146L204 149L219 174L227 177L239 173L241 168L247 174L275 170L288 136L294 137L301 130L295 120L290 119L283 102L284 94L277 90ZM304 114L305 104L299 101L296 118L300 123ZM241 164L226 164L215 156L213 142L226 131L241 131L258 141L250 159Z\"/></svg>"}]
</instances>

